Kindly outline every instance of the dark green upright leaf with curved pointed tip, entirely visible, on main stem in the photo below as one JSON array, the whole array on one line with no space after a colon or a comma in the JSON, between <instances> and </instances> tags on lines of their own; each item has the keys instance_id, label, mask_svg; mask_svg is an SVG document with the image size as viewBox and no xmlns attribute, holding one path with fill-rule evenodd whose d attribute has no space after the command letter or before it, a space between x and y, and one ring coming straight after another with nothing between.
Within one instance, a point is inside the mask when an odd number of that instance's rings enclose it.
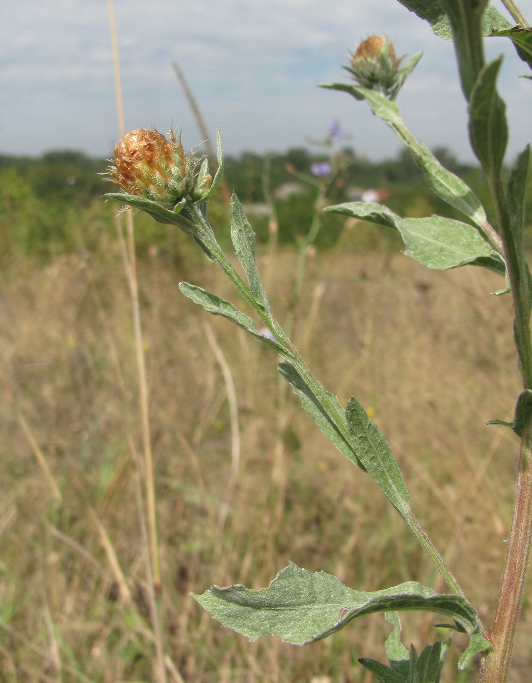
<instances>
[{"instance_id":1,"label":"dark green upright leaf with curved pointed tip, entirely visible, on main stem","mask_svg":"<svg viewBox=\"0 0 532 683\"><path fill-rule=\"evenodd\" d=\"M496 79L502 57L480 72L469 101L469 139L486 175L498 175L508 141L506 105L499 97Z\"/></svg>"}]
</instances>

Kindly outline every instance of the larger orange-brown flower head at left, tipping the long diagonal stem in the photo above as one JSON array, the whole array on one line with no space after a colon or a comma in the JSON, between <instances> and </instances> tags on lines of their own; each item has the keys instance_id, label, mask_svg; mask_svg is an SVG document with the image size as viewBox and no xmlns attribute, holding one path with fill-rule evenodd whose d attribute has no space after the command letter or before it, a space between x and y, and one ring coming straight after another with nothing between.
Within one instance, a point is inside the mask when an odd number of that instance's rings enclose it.
<instances>
[{"instance_id":1,"label":"larger orange-brown flower head at left, tipping the long diagonal stem","mask_svg":"<svg viewBox=\"0 0 532 683\"><path fill-rule=\"evenodd\" d=\"M145 197L167 208L182 199L199 201L212 179L204 173L198 184L201 158L193 153L185 156L181 138L176 138L173 130L169 137L167 140L155 128L137 128L126 133L113 150L111 180L128 195Z\"/></svg>"}]
</instances>

